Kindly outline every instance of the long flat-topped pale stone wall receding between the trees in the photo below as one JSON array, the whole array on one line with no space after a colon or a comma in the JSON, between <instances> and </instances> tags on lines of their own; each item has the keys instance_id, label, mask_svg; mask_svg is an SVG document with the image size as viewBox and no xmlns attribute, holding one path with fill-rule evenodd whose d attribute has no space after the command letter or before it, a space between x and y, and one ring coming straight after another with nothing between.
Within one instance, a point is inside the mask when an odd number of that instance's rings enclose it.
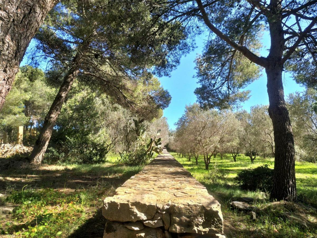
<instances>
[{"instance_id":1,"label":"long flat-topped pale stone wall receding between the trees","mask_svg":"<svg viewBox=\"0 0 317 238\"><path fill-rule=\"evenodd\" d=\"M166 149L163 153L104 200L102 215L172 233L223 233L219 202Z\"/></svg>"}]
</instances>

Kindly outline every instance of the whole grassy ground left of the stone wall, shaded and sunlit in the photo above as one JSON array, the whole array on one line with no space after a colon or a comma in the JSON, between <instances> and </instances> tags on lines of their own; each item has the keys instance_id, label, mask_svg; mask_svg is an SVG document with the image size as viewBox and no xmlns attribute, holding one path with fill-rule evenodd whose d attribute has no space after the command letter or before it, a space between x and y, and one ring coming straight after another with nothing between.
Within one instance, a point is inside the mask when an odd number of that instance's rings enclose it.
<instances>
[{"instance_id":1,"label":"whole grassy ground left of the stone wall, shaded and sunlit","mask_svg":"<svg viewBox=\"0 0 317 238\"><path fill-rule=\"evenodd\" d=\"M142 166L128 166L110 155L92 165L8 166L0 171L0 237L102 237L102 201ZM119 157L120 158L120 157ZM0 163L3 161L0 161Z\"/></svg>"}]
</instances>

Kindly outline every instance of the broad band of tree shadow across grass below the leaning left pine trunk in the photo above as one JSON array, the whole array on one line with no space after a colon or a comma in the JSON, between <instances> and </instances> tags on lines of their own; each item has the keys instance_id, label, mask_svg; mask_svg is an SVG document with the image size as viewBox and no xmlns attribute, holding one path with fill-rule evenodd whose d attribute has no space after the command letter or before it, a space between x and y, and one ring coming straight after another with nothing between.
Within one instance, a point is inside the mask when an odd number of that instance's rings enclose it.
<instances>
[{"instance_id":1,"label":"broad band of tree shadow across grass below the leaning left pine trunk","mask_svg":"<svg viewBox=\"0 0 317 238\"><path fill-rule=\"evenodd\" d=\"M0 159L0 165L4 163L5 166L0 168L0 193L5 193L8 188L21 190L26 185L28 188L53 188L70 192L95 186L100 182L115 185L138 173L142 168L109 163L72 165L70 168L45 164L36 167L29 166L25 159Z\"/></svg>"}]
</instances>

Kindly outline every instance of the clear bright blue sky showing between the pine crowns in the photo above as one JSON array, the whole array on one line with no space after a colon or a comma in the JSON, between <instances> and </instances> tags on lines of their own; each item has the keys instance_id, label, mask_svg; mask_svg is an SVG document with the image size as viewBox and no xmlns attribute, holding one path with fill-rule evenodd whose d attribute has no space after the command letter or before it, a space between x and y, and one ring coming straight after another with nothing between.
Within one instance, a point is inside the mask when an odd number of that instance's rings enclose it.
<instances>
[{"instance_id":1,"label":"clear bright blue sky showing between the pine crowns","mask_svg":"<svg viewBox=\"0 0 317 238\"><path fill-rule=\"evenodd\" d=\"M172 71L171 77L161 77L160 82L164 89L167 89L171 96L171 104L164 110L164 116L167 117L167 122L170 129L175 129L174 123L184 113L185 105L196 102L197 97L194 94L194 90L199 86L197 84L197 78L193 76L196 73L194 69L194 60L197 54L201 54L204 48L204 42L206 38L198 36L196 38L197 48L187 56L183 56L177 69ZM267 56L270 45L270 38L267 32L263 33L262 40L263 48L261 50L261 56ZM283 75L284 93L287 96L289 93L304 90L303 87L298 85L290 76L289 73ZM262 76L251 83L246 90L250 90L250 98L244 102L241 106L243 109L250 110L251 106L257 104L268 104L268 93L266 88L266 74L263 70Z\"/></svg>"}]
</instances>

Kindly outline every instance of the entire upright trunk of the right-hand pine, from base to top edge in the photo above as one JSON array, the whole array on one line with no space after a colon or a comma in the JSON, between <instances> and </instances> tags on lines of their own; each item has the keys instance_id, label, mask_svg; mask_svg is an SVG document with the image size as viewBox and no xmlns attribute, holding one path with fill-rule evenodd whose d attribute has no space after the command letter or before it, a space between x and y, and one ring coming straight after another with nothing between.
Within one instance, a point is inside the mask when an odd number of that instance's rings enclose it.
<instances>
[{"instance_id":1,"label":"entire upright trunk of the right-hand pine, from base to top edge","mask_svg":"<svg viewBox=\"0 0 317 238\"><path fill-rule=\"evenodd\" d=\"M279 12L278 1L272 7ZM284 99L282 81L284 50L284 32L281 15L269 19L271 47L268 55L267 88L269 107L268 113L272 120L275 142L274 183L271 198L292 201L296 199L295 150L291 122Z\"/></svg>"}]
</instances>

